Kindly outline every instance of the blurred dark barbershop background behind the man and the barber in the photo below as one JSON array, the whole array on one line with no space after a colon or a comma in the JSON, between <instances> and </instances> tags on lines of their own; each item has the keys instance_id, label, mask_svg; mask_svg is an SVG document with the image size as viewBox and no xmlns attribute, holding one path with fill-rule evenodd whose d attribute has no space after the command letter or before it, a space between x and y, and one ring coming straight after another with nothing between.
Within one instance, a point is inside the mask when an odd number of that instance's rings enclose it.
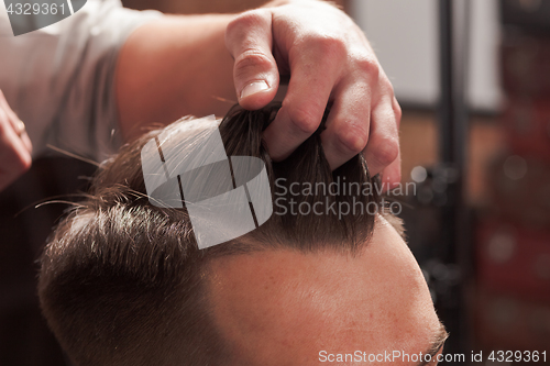
<instances>
[{"instance_id":1,"label":"blurred dark barbershop background behind the man and the barber","mask_svg":"<svg viewBox=\"0 0 550 366\"><path fill-rule=\"evenodd\" d=\"M167 13L263 0L125 0ZM550 1L340 0L403 107L409 245L451 337L446 353L547 352L550 364ZM0 193L0 365L64 365L36 258L94 166L47 157ZM484 362L496 365L497 362ZM501 363L507 364L507 363ZM521 363L514 362L516 365Z\"/></svg>"}]
</instances>

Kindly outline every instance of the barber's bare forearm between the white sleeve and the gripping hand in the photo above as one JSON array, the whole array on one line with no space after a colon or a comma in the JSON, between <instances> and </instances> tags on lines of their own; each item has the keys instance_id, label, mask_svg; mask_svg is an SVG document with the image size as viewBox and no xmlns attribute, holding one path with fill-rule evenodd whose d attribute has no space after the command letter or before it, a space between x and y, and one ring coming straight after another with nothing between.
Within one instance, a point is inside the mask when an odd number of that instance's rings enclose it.
<instances>
[{"instance_id":1,"label":"barber's bare forearm between the white sleeve and the gripping hand","mask_svg":"<svg viewBox=\"0 0 550 366\"><path fill-rule=\"evenodd\" d=\"M224 114L237 101L233 59L224 44L233 16L164 16L129 37L117 66L125 140L141 135L152 123L166 124L187 114Z\"/></svg>"}]
</instances>

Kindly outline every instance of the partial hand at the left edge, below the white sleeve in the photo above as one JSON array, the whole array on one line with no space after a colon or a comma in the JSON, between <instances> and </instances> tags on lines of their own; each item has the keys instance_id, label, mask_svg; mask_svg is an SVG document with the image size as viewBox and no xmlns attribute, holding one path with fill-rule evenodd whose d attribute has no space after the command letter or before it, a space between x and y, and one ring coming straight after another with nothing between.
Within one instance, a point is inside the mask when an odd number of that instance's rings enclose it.
<instances>
[{"instance_id":1,"label":"partial hand at the left edge, below the white sleeve","mask_svg":"<svg viewBox=\"0 0 550 366\"><path fill-rule=\"evenodd\" d=\"M0 191L31 167L31 152L25 125L0 90Z\"/></svg>"}]
</instances>

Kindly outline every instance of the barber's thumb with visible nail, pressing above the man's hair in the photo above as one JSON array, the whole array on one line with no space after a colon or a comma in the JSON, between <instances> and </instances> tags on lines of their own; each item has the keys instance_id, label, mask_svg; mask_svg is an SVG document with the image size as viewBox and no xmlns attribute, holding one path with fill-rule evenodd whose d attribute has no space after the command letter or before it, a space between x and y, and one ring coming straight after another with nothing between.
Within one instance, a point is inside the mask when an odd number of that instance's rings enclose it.
<instances>
[{"instance_id":1,"label":"barber's thumb with visible nail, pressing above the man's hair","mask_svg":"<svg viewBox=\"0 0 550 366\"><path fill-rule=\"evenodd\" d=\"M265 107L275 98L279 74L272 53L272 12L244 12L226 31L226 45L234 58L233 78L241 107Z\"/></svg>"}]
</instances>

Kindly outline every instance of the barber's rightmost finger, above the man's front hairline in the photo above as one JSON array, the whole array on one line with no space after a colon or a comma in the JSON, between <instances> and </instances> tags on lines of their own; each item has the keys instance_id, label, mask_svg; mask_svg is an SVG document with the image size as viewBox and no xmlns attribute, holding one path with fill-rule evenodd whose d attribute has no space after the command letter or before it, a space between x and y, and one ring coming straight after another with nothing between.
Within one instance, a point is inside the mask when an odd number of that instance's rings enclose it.
<instances>
[{"instance_id":1,"label":"barber's rightmost finger, above the man's front hairline","mask_svg":"<svg viewBox=\"0 0 550 366\"><path fill-rule=\"evenodd\" d=\"M363 151L372 176L382 174L386 189L400 181L399 124L402 110L395 98L383 98L371 113L371 134Z\"/></svg>"}]
</instances>

